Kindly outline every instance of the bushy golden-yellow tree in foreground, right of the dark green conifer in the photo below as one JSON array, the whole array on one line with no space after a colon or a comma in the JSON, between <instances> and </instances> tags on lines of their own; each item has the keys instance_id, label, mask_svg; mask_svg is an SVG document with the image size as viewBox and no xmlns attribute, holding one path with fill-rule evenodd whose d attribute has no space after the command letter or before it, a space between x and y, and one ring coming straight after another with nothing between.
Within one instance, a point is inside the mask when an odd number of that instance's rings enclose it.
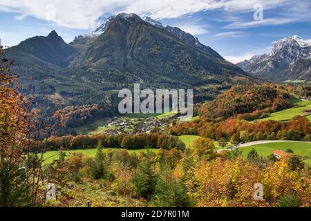
<instances>
[{"instance_id":1,"label":"bushy golden-yellow tree in foreground, right of the dark green conifer","mask_svg":"<svg viewBox=\"0 0 311 221\"><path fill-rule=\"evenodd\" d=\"M261 206L254 200L254 184L260 182L258 166L238 157L199 162L187 174L186 186L196 206Z\"/></svg>"}]
</instances>

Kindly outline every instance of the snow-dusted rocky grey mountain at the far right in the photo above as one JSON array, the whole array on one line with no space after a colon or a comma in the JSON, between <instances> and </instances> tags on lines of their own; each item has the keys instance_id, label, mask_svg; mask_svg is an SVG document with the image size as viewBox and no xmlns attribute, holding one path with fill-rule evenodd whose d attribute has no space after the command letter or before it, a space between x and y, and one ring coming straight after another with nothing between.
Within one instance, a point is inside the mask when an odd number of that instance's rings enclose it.
<instances>
[{"instance_id":1,"label":"snow-dusted rocky grey mountain at the far right","mask_svg":"<svg viewBox=\"0 0 311 221\"><path fill-rule=\"evenodd\" d=\"M258 77L276 81L311 78L311 39L298 35L272 42L268 55L254 56L237 65Z\"/></svg>"}]
</instances>

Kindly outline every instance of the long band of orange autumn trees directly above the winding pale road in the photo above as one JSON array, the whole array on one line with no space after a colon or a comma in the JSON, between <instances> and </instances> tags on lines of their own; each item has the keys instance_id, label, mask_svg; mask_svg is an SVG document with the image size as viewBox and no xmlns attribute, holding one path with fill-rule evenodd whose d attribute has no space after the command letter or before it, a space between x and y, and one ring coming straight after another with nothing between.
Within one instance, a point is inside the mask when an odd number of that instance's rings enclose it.
<instances>
[{"instance_id":1,"label":"long band of orange autumn trees directly above the winding pale road","mask_svg":"<svg viewBox=\"0 0 311 221\"><path fill-rule=\"evenodd\" d=\"M311 141L311 123L305 117L294 117L288 122L247 122L227 119L224 122L182 122L169 129L171 135L200 135L213 140L251 142L256 140L305 140Z\"/></svg>"}]
</instances>

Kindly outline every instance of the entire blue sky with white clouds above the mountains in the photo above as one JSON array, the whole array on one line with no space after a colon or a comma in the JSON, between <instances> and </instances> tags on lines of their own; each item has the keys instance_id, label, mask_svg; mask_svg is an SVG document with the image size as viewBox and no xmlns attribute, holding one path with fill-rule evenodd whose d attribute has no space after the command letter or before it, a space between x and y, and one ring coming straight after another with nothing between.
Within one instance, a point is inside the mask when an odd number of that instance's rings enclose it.
<instances>
[{"instance_id":1,"label":"entire blue sky with white clouds above the mountains","mask_svg":"<svg viewBox=\"0 0 311 221\"><path fill-rule=\"evenodd\" d=\"M0 0L0 38L14 46L56 30L70 42L119 12L179 27L234 63L269 52L283 37L311 39L310 0Z\"/></svg>"}]
</instances>

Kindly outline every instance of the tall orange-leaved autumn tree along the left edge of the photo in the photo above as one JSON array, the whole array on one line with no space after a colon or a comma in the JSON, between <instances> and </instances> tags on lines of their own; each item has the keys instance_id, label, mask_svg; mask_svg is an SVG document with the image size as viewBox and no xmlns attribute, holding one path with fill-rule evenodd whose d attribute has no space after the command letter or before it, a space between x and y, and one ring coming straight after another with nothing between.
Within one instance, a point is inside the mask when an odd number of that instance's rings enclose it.
<instances>
[{"instance_id":1,"label":"tall orange-leaved autumn tree along the left edge of the photo","mask_svg":"<svg viewBox=\"0 0 311 221\"><path fill-rule=\"evenodd\" d=\"M31 98L23 96L13 61L3 57L0 46L0 206L37 204L42 157L27 164L26 156L37 142L34 140L35 117ZM39 131L39 130L38 130ZM42 155L41 155L42 156Z\"/></svg>"}]
</instances>

